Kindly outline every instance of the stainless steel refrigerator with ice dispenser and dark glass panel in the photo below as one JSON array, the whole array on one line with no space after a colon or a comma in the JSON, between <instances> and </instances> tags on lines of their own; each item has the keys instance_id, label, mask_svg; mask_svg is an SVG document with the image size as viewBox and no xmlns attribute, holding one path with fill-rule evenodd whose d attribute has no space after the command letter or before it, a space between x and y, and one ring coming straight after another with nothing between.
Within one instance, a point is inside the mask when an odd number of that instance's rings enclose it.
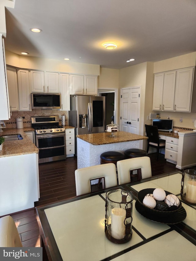
<instances>
[{"instance_id":1,"label":"stainless steel refrigerator with ice dispenser and dark glass panel","mask_svg":"<svg viewBox=\"0 0 196 261\"><path fill-rule=\"evenodd\" d=\"M76 135L105 131L105 97L70 95L69 125L75 127Z\"/></svg>"}]
</instances>

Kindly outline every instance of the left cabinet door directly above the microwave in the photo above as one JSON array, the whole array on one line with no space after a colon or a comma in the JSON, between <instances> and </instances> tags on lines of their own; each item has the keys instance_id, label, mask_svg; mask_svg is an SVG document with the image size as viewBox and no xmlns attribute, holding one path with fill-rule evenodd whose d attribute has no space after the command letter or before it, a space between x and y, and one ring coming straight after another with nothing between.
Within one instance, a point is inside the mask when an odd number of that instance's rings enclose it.
<instances>
[{"instance_id":1,"label":"left cabinet door directly above the microwave","mask_svg":"<svg viewBox=\"0 0 196 261\"><path fill-rule=\"evenodd\" d=\"M44 92L44 72L43 71L30 71L31 75L31 91Z\"/></svg>"}]
</instances>

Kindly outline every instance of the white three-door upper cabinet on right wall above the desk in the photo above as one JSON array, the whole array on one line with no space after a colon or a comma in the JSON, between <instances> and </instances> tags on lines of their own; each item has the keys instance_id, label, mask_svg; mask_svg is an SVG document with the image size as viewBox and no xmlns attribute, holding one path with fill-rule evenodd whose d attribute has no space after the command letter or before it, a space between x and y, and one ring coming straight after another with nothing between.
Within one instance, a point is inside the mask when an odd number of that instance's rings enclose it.
<instances>
[{"instance_id":1,"label":"white three-door upper cabinet on right wall above the desk","mask_svg":"<svg viewBox=\"0 0 196 261\"><path fill-rule=\"evenodd\" d=\"M156 73L153 110L194 112L191 110L193 76L194 67Z\"/></svg>"}]
</instances>

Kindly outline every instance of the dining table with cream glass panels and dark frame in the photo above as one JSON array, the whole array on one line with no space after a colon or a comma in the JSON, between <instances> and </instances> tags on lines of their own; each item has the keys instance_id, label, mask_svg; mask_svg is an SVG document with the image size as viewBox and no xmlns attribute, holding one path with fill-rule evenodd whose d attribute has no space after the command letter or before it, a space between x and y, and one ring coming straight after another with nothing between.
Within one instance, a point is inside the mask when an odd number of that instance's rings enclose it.
<instances>
[{"instance_id":1,"label":"dining table with cream glass panels and dark frame","mask_svg":"<svg viewBox=\"0 0 196 261\"><path fill-rule=\"evenodd\" d=\"M165 190L170 189L179 196L180 178L181 173L164 174L118 187L131 190L136 196L145 185L153 185L153 188L162 185ZM175 180L176 184L172 182ZM125 244L115 244L107 239L101 224L105 218L107 190L37 208L42 246L45 246L49 260L196 260L195 207L183 203L187 211L183 222L160 224L136 211L135 197L132 238Z\"/></svg>"}]
</instances>

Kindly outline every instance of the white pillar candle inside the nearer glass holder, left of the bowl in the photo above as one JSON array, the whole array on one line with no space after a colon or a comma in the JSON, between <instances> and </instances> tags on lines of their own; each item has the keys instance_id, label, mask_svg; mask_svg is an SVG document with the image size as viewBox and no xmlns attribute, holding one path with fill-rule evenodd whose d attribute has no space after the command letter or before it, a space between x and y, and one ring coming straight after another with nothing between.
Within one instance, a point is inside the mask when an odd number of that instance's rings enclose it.
<instances>
[{"instance_id":1,"label":"white pillar candle inside the nearer glass holder, left of the bowl","mask_svg":"<svg viewBox=\"0 0 196 261\"><path fill-rule=\"evenodd\" d=\"M111 210L111 236L116 239L125 237L126 210L124 208L115 207Z\"/></svg>"}]
</instances>

